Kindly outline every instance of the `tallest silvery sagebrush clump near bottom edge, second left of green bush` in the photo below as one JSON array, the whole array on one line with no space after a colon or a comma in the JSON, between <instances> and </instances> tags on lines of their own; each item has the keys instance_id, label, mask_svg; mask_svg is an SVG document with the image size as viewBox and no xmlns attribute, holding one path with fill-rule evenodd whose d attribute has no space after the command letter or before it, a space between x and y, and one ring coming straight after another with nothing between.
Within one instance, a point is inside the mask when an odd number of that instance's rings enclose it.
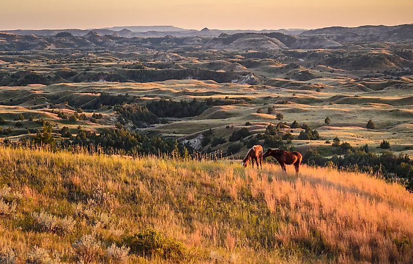
<instances>
[{"instance_id":1,"label":"tallest silvery sagebrush clump near bottom edge, second left of green bush","mask_svg":"<svg viewBox=\"0 0 413 264\"><path fill-rule=\"evenodd\" d=\"M96 260L101 252L101 243L93 235L83 235L72 247L79 260L85 263Z\"/></svg>"}]
</instances>

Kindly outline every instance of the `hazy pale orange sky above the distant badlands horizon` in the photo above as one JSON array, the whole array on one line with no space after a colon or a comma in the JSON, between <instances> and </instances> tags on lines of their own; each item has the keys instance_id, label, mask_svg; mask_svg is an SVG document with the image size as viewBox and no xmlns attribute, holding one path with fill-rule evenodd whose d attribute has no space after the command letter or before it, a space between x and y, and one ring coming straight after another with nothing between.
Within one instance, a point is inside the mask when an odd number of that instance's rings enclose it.
<instances>
[{"instance_id":1,"label":"hazy pale orange sky above the distant badlands horizon","mask_svg":"<svg viewBox=\"0 0 413 264\"><path fill-rule=\"evenodd\" d=\"M413 23L413 0L0 0L0 29L279 29Z\"/></svg>"}]
</instances>

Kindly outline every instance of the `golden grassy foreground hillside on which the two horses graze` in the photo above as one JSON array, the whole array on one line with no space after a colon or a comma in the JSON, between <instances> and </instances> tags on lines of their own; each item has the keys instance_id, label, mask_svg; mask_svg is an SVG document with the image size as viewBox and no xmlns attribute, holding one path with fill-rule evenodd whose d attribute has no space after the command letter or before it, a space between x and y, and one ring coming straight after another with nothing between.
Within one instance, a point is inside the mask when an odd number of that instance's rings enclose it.
<instances>
[{"instance_id":1,"label":"golden grassy foreground hillside on which the two horses graze","mask_svg":"<svg viewBox=\"0 0 413 264\"><path fill-rule=\"evenodd\" d=\"M413 261L412 194L363 174L1 147L0 186L0 263Z\"/></svg>"}]
</instances>

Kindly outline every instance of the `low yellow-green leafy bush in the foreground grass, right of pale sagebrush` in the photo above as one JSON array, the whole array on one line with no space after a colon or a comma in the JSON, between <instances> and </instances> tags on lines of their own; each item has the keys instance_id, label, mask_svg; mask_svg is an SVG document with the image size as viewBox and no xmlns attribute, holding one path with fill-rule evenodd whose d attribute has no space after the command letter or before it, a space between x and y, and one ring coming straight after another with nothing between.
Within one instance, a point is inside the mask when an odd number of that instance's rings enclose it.
<instances>
[{"instance_id":1,"label":"low yellow-green leafy bush in the foreground grass, right of pale sagebrush","mask_svg":"<svg viewBox=\"0 0 413 264\"><path fill-rule=\"evenodd\" d=\"M186 247L172 238L164 237L152 228L127 236L123 242L130 247L130 251L141 256L157 256L172 262L181 262L189 259Z\"/></svg>"}]
</instances>

